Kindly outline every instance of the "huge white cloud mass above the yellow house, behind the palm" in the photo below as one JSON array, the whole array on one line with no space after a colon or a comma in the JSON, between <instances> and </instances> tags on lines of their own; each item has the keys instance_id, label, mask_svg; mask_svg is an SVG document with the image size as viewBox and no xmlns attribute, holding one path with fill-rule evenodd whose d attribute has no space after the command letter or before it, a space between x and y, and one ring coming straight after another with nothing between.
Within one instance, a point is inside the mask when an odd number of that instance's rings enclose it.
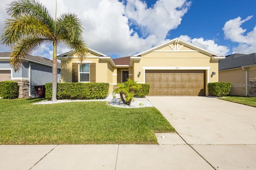
<instances>
[{"instance_id":1,"label":"huge white cloud mass above the yellow house, behind the palm","mask_svg":"<svg viewBox=\"0 0 256 170\"><path fill-rule=\"evenodd\" d=\"M10 2L0 2L0 16L3 16L1 23L7 16L6 6L2 4ZM55 1L40 2L54 17ZM180 25L190 4L187 0L157 0L148 8L141 0L58 0L57 16L64 12L76 13L84 25L83 35L88 47L107 55L126 56L166 41L166 35ZM137 28L132 29L133 27ZM48 52L44 51L46 54L35 54L48 55L50 58L52 48L50 45L46 46L49 47ZM66 46L58 46L57 49L61 52L67 50ZM0 46L0 50L7 51L7 48Z\"/></svg>"}]
</instances>

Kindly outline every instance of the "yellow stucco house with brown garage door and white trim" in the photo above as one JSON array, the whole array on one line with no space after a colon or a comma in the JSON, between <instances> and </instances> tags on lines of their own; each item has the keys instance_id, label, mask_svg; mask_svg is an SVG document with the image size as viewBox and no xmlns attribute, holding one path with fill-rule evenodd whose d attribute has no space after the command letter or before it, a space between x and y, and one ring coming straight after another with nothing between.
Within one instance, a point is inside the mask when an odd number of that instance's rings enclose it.
<instances>
[{"instance_id":1,"label":"yellow stucco house with brown garage door and white trim","mask_svg":"<svg viewBox=\"0 0 256 170\"><path fill-rule=\"evenodd\" d=\"M208 82L218 82L218 60L225 57L175 38L113 60L92 49L83 63L74 51L57 58L62 82L108 82L111 93L115 84L130 78L150 84L152 96L208 96Z\"/></svg>"}]
</instances>

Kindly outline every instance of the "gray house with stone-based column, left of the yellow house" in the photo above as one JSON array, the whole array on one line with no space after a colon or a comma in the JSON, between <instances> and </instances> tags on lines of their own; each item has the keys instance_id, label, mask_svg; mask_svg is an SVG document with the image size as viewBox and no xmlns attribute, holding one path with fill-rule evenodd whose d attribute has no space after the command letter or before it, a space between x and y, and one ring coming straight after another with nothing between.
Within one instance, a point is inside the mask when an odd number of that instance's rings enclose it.
<instances>
[{"instance_id":1,"label":"gray house with stone-based column, left of the yellow house","mask_svg":"<svg viewBox=\"0 0 256 170\"><path fill-rule=\"evenodd\" d=\"M10 67L10 52L0 53L0 81L13 80L19 84L19 98L37 97L34 86L52 82L52 60L40 56L24 57L22 68L15 72ZM60 82L60 64L58 63Z\"/></svg>"}]
</instances>

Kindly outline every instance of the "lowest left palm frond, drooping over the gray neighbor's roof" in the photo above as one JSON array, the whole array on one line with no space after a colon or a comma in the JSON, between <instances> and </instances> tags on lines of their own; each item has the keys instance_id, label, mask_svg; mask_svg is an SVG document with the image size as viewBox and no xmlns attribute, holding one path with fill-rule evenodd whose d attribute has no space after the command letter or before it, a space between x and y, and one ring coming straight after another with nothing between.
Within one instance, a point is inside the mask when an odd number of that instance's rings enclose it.
<instances>
[{"instance_id":1,"label":"lowest left palm frond, drooping over the gray neighbor's roof","mask_svg":"<svg viewBox=\"0 0 256 170\"><path fill-rule=\"evenodd\" d=\"M21 39L16 45L12 47L12 52L10 54L10 66L14 68L14 71L19 71L23 57L37 49L44 42L49 42L48 39L42 37L26 37Z\"/></svg>"}]
</instances>

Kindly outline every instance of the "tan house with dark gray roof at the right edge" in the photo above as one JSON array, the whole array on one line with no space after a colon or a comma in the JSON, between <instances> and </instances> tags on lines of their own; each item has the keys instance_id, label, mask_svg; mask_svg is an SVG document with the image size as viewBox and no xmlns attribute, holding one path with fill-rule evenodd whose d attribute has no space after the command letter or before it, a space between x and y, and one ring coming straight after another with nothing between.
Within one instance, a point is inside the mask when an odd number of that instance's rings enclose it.
<instances>
[{"instance_id":1,"label":"tan house with dark gray roof at the right edge","mask_svg":"<svg viewBox=\"0 0 256 170\"><path fill-rule=\"evenodd\" d=\"M232 82L229 95L256 97L256 53L226 56L219 62L219 81Z\"/></svg>"}]
</instances>

